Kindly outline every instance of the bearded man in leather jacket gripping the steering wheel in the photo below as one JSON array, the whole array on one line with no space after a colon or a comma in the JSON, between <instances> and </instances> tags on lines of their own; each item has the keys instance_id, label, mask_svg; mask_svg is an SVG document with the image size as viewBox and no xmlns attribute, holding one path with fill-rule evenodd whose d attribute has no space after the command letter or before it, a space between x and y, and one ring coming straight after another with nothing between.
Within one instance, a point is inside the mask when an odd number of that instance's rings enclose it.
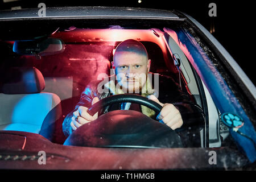
<instances>
[{"instance_id":1,"label":"bearded man in leather jacket gripping the steering wheel","mask_svg":"<svg viewBox=\"0 0 256 182\"><path fill-rule=\"evenodd\" d=\"M191 128L204 123L201 108L191 103L188 95L181 92L179 85L172 78L153 74L159 76L159 80L156 80L159 81L159 89L153 88L152 79L150 80L148 77L150 65L151 60L148 59L146 48L142 43L132 39L121 42L113 56L114 75L109 77L110 81L108 79L103 84L102 80L96 80L86 86L79 103L63 122L64 134L68 136L81 125L97 119L99 114L115 109L137 110L148 117L155 117L155 112L148 107L130 103L108 106L93 116L87 113L88 108L100 99L121 93L141 94L158 102L163 108L156 118L160 122L166 123L172 130L180 127ZM102 91L103 85L107 88L104 91Z\"/></svg>"}]
</instances>

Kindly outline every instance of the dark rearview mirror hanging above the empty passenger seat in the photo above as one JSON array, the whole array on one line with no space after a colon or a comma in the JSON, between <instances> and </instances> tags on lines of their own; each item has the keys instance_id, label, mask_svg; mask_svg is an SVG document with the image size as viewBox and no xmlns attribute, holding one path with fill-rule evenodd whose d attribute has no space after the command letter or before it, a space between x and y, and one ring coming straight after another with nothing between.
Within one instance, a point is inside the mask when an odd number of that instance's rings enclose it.
<instances>
[{"instance_id":1,"label":"dark rearview mirror hanging above the empty passenger seat","mask_svg":"<svg viewBox=\"0 0 256 182\"><path fill-rule=\"evenodd\" d=\"M60 39L48 38L45 40L19 40L13 45L13 52L20 55L48 56L63 52L64 43Z\"/></svg>"}]
</instances>

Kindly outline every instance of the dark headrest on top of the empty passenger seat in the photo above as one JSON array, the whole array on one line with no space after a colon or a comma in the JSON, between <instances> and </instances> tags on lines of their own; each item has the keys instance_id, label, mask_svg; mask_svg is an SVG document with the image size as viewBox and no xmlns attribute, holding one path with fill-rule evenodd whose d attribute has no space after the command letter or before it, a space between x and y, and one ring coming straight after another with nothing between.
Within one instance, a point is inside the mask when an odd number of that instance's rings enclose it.
<instances>
[{"instance_id":1,"label":"dark headrest on top of the empty passenger seat","mask_svg":"<svg viewBox=\"0 0 256 182\"><path fill-rule=\"evenodd\" d=\"M2 93L40 93L46 86L42 73L34 67L11 68L4 76Z\"/></svg>"}]
</instances>

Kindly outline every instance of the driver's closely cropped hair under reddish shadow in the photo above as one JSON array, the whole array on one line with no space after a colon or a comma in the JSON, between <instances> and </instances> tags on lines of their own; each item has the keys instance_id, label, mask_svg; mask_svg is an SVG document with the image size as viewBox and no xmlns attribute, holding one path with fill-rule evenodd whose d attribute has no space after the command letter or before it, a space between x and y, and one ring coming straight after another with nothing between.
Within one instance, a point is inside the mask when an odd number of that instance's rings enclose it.
<instances>
[{"instance_id":1,"label":"driver's closely cropped hair under reddish shadow","mask_svg":"<svg viewBox=\"0 0 256 182\"><path fill-rule=\"evenodd\" d=\"M119 43L118 46L115 48L113 58L115 57L115 53L121 52L121 51L136 52L146 56L148 59L147 49L143 46L141 42L134 39L127 39Z\"/></svg>"}]
</instances>

